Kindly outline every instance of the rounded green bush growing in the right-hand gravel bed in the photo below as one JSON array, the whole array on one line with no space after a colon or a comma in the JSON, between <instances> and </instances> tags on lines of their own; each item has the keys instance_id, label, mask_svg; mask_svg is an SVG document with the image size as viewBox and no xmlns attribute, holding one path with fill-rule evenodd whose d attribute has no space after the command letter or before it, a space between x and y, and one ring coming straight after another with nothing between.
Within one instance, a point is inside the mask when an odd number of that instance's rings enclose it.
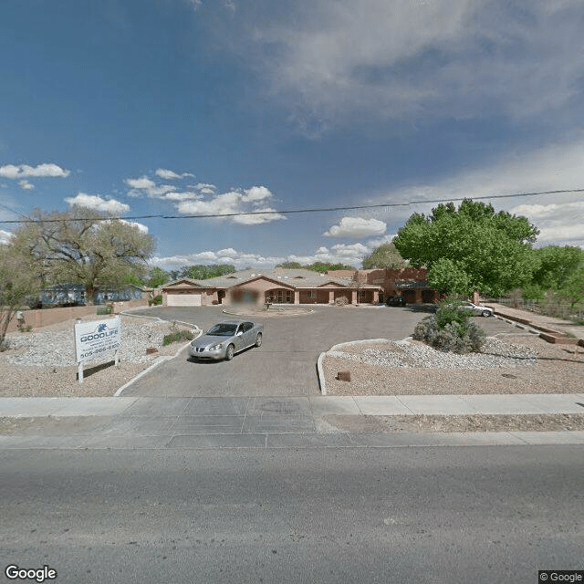
<instances>
[{"instance_id":1,"label":"rounded green bush growing in the right-hand gravel bed","mask_svg":"<svg viewBox=\"0 0 584 584\"><path fill-rule=\"evenodd\" d=\"M456 299L438 304L436 314L423 318L413 330L413 339L433 349L454 353L476 352L485 344L485 330L470 320L468 311Z\"/></svg>"}]
</instances>

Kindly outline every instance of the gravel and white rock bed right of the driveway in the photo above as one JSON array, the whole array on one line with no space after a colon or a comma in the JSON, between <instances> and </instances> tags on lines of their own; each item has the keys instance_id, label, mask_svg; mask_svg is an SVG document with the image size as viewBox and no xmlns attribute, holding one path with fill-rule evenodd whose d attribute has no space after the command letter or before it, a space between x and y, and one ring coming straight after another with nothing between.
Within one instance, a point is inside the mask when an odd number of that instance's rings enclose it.
<instances>
[{"instance_id":1,"label":"gravel and white rock bed right of the driveway","mask_svg":"<svg viewBox=\"0 0 584 584\"><path fill-rule=\"evenodd\" d=\"M515 333L489 337L481 353L467 355L412 339L355 343L328 351L322 364L329 395L575 393L584 351ZM350 381L337 379L340 370Z\"/></svg>"}]
</instances>

